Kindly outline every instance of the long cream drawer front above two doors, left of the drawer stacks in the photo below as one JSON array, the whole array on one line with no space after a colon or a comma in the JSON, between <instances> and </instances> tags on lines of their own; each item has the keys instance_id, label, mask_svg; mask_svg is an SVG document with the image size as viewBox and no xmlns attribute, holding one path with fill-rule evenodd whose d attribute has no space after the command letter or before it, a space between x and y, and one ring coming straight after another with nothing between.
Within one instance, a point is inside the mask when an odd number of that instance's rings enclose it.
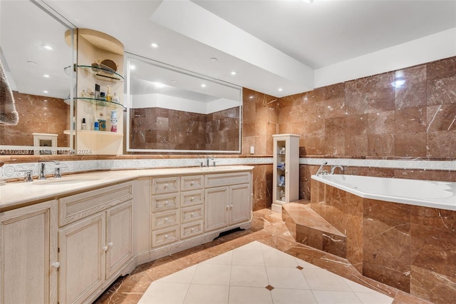
<instances>
[{"instance_id":1,"label":"long cream drawer front above two doors, left of the drawer stacks","mask_svg":"<svg viewBox=\"0 0 456 304\"><path fill-rule=\"evenodd\" d=\"M120 183L58 200L58 226L65 226L133 198L133 183Z\"/></svg>"}]
</instances>

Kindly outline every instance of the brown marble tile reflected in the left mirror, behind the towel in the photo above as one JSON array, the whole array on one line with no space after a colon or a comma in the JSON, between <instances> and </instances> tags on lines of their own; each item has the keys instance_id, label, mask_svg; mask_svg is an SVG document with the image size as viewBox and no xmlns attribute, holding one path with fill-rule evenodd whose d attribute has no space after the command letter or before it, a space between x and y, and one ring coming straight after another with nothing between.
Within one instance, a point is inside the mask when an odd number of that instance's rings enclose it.
<instances>
[{"instance_id":1,"label":"brown marble tile reflected in the left mirror, behind the towel","mask_svg":"<svg viewBox=\"0 0 456 304\"><path fill-rule=\"evenodd\" d=\"M32 133L58 134L57 145L68 147L70 106L62 99L13 92L16 111L19 113L17 126L1 126L0 145L33 146ZM33 151L32 151L33 153Z\"/></svg>"}]
</instances>

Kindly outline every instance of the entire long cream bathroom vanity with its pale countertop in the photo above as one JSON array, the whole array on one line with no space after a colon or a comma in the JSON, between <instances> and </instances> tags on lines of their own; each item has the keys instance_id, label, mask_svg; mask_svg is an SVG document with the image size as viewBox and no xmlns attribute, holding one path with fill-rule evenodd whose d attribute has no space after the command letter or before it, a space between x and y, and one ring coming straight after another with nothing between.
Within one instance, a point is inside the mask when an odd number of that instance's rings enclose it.
<instances>
[{"instance_id":1,"label":"entire long cream bathroom vanity with its pale countertop","mask_svg":"<svg viewBox=\"0 0 456 304\"><path fill-rule=\"evenodd\" d=\"M1 303L92 303L137 265L249 228L252 169L104 171L1 186Z\"/></svg>"}]
</instances>

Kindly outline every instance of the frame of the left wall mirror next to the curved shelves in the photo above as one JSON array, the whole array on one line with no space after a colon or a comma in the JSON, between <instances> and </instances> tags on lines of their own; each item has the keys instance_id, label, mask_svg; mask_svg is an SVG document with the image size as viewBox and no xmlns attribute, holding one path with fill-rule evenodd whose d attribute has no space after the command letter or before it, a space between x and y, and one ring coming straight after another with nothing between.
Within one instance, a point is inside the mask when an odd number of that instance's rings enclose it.
<instances>
[{"instance_id":1,"label":"frame of the left wall mirror next to the curved shelves","mask_svg":"<svg viewBox=\"0 0 456 304\"><path fill-rule=\"evenodd\" d=\"M77 62L77 50L75 49L75 35L76 35L76 26L74 24L71 24L70 21L65 19L63 16L58 14L56 11L51 9L48 4L41 0L28 0L31 2L31 4L35 5L38 9L41 9L44 13L46 13L48 16L50 16L52 19L56 20L59 24L63 25L66 28L66 31L71 32L71 46L69 46L69 58L71 61L68 62L68 67L72 66L73 64L76 64ZM61 37L62 40L65 39L65 35L62 35ZM61 69L67 68L66 66L62 66ZM8 155L27 155L27 156L32 156L33 154L28 153L28 151L52 151L53 156L63 156L63 155L68 155L68 154L74 154L74 136L76 136L76 130L73 128L73 123L71 123L71 118L75 115L75 109L74 109L74 103L73 103L73 98L74 96L74 91L73 88L76 86L76 73L73 71L73 69L68 69L69 71L69 81L68 81L68 91L69 96L68 96L68 105L70 106L70 116L68 117L69 121L69 132L66 133L67 136L69 136L69 146L68 147L43 147L43 148L37 148L36 146L6 146L6 145L1 145L0 144L0 155L1 156L8 156ZM14 151L15 153L6 153L7 151ZM58 153L60 152L60 153ZM44 154L46 155L46 153Z\"/></svg>"}]
</instances>

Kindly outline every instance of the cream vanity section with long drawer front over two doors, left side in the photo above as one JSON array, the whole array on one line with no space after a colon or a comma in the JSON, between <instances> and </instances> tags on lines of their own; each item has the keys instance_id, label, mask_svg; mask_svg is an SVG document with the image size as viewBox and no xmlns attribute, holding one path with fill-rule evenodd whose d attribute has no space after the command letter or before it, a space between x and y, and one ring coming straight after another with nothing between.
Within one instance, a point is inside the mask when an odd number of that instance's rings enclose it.
<instances>
[{"instance_id":1,"label":"cream vanity section with long drawer front over two doors, left side","mask_svg":"<svg viewBox=\"0 0 456 304\"><path fill-rule=\"evenodd\" d=\"M58 200L58 302L95 300L133 258L133 183Z\"/></svg>"}]
</instances>

